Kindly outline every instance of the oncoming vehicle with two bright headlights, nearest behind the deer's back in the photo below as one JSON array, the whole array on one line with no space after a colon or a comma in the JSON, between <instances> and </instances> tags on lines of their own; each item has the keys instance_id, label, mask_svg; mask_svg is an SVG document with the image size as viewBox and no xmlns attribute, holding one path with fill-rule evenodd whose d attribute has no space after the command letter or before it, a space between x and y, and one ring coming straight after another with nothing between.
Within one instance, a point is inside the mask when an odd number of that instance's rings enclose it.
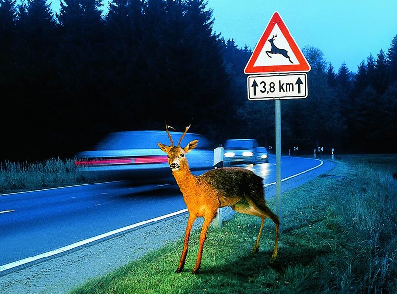
<instances>
[{"instance_id":1,"label":"oncoming vehicle with two bright headlights, nearest behind the deer's back","mask_svg":"<svg viewBox=\"0 0 397 294\"><path fill-rule=\"evenodd\" d=\"M257 162L255 139L229 139L224 145L224 166L246 165Z\"/></svg>"}]
</instances>

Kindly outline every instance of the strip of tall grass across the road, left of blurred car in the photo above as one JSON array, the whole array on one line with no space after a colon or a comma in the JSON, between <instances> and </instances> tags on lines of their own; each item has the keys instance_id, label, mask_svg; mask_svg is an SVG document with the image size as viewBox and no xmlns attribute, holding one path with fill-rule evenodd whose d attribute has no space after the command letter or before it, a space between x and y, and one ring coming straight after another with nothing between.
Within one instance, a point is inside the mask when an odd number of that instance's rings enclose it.
<instances>
[{"instance_id":1,"label":"strip of tall grass across the road, left of blurred car","mask_svg":"<svg viewBox=\"0 0 397 294\"><path fill-rule=\"evenodd\" d=\"M90 174L74 167L73 159L48 159L43 162L0 164L0 194L95 182Z\"/></svg>"}]
</instances>

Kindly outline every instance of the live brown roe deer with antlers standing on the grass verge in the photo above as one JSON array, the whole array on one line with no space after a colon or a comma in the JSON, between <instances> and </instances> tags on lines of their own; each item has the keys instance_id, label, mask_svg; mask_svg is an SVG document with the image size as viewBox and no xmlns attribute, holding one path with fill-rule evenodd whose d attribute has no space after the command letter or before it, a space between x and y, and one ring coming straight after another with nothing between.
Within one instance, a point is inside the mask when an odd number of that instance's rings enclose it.
<instances>
[{"instance_id":1,"label":"live brown roe deer with antlers standing on the grass verge","mask_svg":"<svg viewBox=\"0 0 397 294\"><path fill-rule=\"evenodd\" d=\"M274 261L277 257L279 218L266 206L262 178L252 171L239 167L218 168L205 172L200 176L192 175L185 154L197 146L198 140L189 142L184 148L180 147L180 143L189 127L186 127L178 145L174 146L171 135L168 132L169 126L166 123L166 131L171 146L158 143L160 149L168 155L168 164L189 210L182 256L180 257L176 273L183 270L193 222L197 217L204 217L197 261L193 268L193 273L198 272L208 226L216 216L217 209L224 206L230 206L237 212L258 216L262 219L259 233L253 246L253 253L259 249L259 239L265 218L270 218L275 223L276 237L271 258Z\"/></svg>"}]
</instances>

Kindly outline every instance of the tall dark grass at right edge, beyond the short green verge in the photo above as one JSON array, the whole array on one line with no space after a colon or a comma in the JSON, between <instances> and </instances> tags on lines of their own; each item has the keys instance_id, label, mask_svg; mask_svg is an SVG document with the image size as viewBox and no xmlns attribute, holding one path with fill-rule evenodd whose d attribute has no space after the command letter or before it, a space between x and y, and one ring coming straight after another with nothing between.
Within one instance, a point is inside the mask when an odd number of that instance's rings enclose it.
<instances>
[{"instance_id":1,"label":"tall dark grass at right edge, beyond the short green verge","mask_svg":"<svg viewBox=\"0 0 397 294\"><path fill-rule=\"evenodd\" d=\"M342 290L396 293L397 181L384 169L361 164L355 173L351 187L335 205L353 240Z\"/></svg>"}]
</instances>

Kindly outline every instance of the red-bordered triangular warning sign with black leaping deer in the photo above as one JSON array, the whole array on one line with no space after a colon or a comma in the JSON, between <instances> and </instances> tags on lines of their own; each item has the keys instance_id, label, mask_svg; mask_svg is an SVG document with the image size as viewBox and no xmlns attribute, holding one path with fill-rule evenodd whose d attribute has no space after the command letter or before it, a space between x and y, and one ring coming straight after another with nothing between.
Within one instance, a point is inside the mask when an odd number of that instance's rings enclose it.
<instances>
[{"instance_id":1,"label":"red-bordered triangular warning sign with black leaping deer","mask_svg":"<svg viewBox=\"0 0 397 294\"><path fill-rule=\"evenodd\" d=\"M274 12L244 69L245 74L308 72L310 65L278 12Z\"/></svg>"}]
</instances>

